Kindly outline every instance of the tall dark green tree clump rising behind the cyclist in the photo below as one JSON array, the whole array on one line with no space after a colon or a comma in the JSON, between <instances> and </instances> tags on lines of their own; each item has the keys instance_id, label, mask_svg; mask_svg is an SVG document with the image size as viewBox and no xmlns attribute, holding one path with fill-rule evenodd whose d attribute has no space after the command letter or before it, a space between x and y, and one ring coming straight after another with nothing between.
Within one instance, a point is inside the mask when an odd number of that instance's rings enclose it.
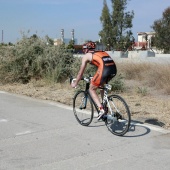
<instances>
[{"instance_id":1,"label":"tall dark green tree clump rising behind the cyclist","mask_svg":"<svg viewBox=\"0 0 170 170\"><path fill-rule=\"evenodd\" d=\"M104 0L100 18L103 29L99 35L104 40L107 38L107 43L115 50L127 49L131 45L133 35L131 28L134 12L125 12L127 0L111 0L111 2L113 11L110 14L106 0ZM104 40L104 45L107 45Z\"/></svg>"}]
</instances>

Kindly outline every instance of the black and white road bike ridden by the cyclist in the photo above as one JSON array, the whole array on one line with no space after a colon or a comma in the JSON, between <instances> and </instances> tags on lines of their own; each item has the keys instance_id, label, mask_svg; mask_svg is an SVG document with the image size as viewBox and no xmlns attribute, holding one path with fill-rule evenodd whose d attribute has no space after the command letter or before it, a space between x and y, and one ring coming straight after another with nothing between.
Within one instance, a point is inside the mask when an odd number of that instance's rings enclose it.
<instances>
[{"instance_id":1,"label":"black and white road bike ridden by the cyclist","mask_svg":"<svg viewBox=\"0 0 170 170\"><path fill-rule=\"evenodd\" d=\"M73 97L73 112L78 121L83 126L88 126L94 118L94 107L99 114L99 109L93 101L90 92L90 80L92 77L83 77L81 80L85 81L85 90L78 90ZM76 79L70 78L70 83ZM123 136L129 130L131 115L129 106L125 100L117 95L111 94L108 96L108 91L112 86L105 84L104 87L99 87L104 90L102 105L105 111L104 116L101 118L108 130L117 136Z\"/></svg>"}]
</instances>

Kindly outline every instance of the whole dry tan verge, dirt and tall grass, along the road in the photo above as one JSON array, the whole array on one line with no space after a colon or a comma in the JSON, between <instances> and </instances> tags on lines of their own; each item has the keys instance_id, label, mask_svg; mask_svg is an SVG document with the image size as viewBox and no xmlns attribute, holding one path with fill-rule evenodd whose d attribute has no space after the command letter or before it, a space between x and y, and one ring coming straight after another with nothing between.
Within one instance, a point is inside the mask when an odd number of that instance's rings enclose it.
<instances>
[{"instance_id":1,"label":"whole dry tan verge, dirt and tall grass, along the road","mask_svg":"<svg viewBox=\"0 0 170 170\"><path fill-rule=\"evenodd\" d=\"M117 66L125 77L126 86L120 95L130 107L132 120L140 119L170 129L170 65L118 63ZM72 105L75 93L68 81L64 84L44 81L6 84L0 85L0 90L67 105Z\"/></svg>"}]
</instances>

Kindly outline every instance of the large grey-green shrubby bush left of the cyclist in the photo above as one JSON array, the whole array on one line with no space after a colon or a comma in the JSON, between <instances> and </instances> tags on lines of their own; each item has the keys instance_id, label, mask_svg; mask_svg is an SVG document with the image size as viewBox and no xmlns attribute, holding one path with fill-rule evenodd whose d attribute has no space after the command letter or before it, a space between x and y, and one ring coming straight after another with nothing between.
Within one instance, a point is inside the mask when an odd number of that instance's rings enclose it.
<instances>
[{"instance_id":1,"label":"large grey-green shrubby bush left of the cyclist","mask_svg":"<svg viewBox=\"0 0 170 170\"><path fill-rule=\"evenodd\" d=\"M47 38L36 35L30 38L24 35L9 56L9 60L1 63L1 79L22 83L32 78L62 82L71 73L74 61L73 54L64 46L47 45Z\"/></svg>"}]
</instances>

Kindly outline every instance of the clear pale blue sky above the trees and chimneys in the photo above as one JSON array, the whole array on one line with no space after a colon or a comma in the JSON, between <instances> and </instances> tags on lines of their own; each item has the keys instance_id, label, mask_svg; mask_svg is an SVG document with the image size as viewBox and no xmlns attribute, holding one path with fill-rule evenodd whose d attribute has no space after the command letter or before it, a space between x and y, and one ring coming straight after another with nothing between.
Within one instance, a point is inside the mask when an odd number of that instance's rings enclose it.
<instances>
[{"instance_id":1,"label":"clear pale blue sky above the trees and chimneys","mask_svg":"<svg viewBox=\"0 0 170 170\"><path fill-rule=\"evenodd\" d=\"M127 0L126 11L134 11L133 36L153 31L151 25L162 18L170 0ZM111 0L107 0L110 12ZM103 0L0 0L0 42L16 43L22 34L50 38L71 38L71 30L81 44L99 40ZM136 39L137 41L137 39Z\"/></svg>"}]
</instances>

